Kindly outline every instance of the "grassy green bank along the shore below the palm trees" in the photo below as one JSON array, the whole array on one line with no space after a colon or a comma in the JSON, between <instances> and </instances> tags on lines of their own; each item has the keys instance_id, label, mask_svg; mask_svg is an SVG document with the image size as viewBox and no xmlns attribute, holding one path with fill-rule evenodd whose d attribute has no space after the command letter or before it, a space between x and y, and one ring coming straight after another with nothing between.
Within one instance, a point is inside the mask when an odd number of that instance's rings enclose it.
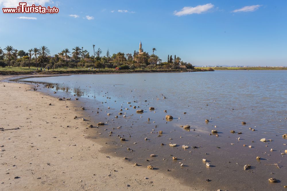
<instances>
[{"instance_id":1,"label":"grassy green bank along the shore below the palm trees","mask_svg":"<svg viewBox=\"0 0 287 191\"><path fill-rule=\"evenodd\" d=\"M163 70L163 69L136 69L136 70L115 70L110 68L101 68L100 70L88 70L88 68L58 68L54 70L40 71L36 67L4 67L0 68L0 75L30 75L30 74L107 74L107 73L144 73L144 72L198 72L201 69L195 70Z\"/></svg>"}]
</instances>

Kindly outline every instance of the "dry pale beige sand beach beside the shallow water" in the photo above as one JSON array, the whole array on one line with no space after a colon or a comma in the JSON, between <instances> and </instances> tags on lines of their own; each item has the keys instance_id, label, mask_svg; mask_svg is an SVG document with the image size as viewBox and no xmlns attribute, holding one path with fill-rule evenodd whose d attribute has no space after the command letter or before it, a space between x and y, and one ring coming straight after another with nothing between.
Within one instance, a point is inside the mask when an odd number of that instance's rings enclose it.
<instances>
[{"instance_id":1,"label":"dry pale beige sand beach beside the shallow water","mask_svg":"<svg viewBox=\"0 0 287 191\"><path fill-rule=\"evenodd\" d=\"M100 153L75 101L17 83L0 82L0 94L0 190L196 190Z\"/></svg>"}]
</instances>

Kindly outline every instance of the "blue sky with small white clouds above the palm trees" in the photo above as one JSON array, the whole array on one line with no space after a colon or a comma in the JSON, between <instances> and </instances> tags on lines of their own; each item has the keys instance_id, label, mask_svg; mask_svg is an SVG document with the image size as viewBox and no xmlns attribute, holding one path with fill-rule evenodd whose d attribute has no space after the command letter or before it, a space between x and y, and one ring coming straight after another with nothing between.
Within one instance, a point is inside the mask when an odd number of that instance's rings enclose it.
<instances>
[{"instance_id":1,"label":"blue sky with small white clouds above the palm trees","mask_svg":"<svg viewBox=\"0 0 287 191\"><path fill-rule=\"evenodd\" d=\"M58 14L0 13L0 47L47 46L51 54L84 47L177 55L193 65L287 66L287 1L49 1ZM18 1L0 0L0 7ZM12 7L14 7L12 6ZM185 8L184 8L185 7ZM31 17L34 19L21 19ZM35 19L36 18L36 19ZM88 19L87 19L88 18Z\"/></svg>"}]
</instances>

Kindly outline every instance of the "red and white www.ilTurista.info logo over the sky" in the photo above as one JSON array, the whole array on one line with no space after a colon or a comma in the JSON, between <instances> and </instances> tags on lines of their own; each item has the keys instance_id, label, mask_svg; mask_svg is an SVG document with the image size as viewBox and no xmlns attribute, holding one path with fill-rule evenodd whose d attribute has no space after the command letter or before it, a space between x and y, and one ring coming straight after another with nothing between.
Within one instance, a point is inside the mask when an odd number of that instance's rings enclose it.
<instances>
[{"instance_id":1,"label":"red and white www.ilTurista.info logo over the sky","mask_svg":"<svg viewBox=\"0 0 287 191\"><path fill-rule=\"evenodd\" d=\"M3 13L41 13L41 14L54 14L59 13L59 8L57 7L42 7L41 5L31 5L26 6L26 2L20 2L20 6L16 8L2 8Z\"/></svg>"}]
</instances>

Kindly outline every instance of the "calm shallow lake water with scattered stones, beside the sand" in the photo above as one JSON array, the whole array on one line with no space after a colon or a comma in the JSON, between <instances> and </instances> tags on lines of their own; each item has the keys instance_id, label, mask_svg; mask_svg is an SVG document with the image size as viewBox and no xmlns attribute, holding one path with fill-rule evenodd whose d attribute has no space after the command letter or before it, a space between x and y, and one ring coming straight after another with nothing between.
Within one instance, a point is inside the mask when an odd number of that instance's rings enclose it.
<instances>
[{"instance_id":1,"label":"calm shallow lake water with scattered stones, beside the sand","mask_svg":"<svg viewBox=\"0 0 287 191\"><path fill-rule=\"evenodd\" d=\"M79 97L94 125L100 120L106 122L92 129L95 141L104 145L102 152L127 157L144 167L151 164L185 184L207 190L284 190L287 185L287 155L281 155L287 149L287 139L282 138L287 133L287 71L71 75L25 80L57 84L55 88L42 85L38 90L50 94L57 91L57 97ZM144 113L136 113L130 105L139 106ZM149 107L155 107L155 112ZM167 114L174 119L166 121ZM205 119L210 122L205 123ZM180 127L186 124L191 126L190 131ZM218 131L218 137L210 135L212 129ZM158 137L160 130L163 134ZM112 136L108 136L110 131ZM120 141L117 135L126 141ZM261 138L272 142L260 142ZM179 146L170 147L169 142ZM184 150L182 145L199 148ZM171 155L179 160L173 161ZM255 159L257 156L260 161ZM180 167L179 162L185 166ZM274 163L280 169L265 165ZM245 164L252 168L244 171ZM280 182L269 184L271 177Z\"/></svg>"}]
</instances>

